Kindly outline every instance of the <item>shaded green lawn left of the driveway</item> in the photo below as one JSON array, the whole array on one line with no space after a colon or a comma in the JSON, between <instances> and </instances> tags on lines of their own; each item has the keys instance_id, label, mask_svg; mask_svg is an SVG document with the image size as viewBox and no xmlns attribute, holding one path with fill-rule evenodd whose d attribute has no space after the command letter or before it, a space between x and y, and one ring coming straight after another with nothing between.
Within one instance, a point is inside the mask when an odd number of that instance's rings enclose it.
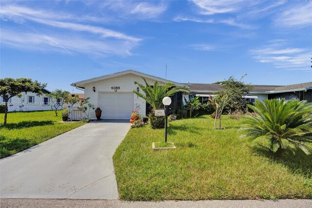
<instances>
[{"instance_id":1,"label":"shaded green lawn left of the driveway","mask_svg":"<svg viewBox=\"0 0 312 208\"><path fill-rule=\"evenodd\" d=\"M59 134L83 125L83 122L62 121L61 113L54 111L29 111L8 113L7 125L3 124L4 113L0 114L0 157L7 157L28 147L38 145Z\"/></svg>"}]
</instances>

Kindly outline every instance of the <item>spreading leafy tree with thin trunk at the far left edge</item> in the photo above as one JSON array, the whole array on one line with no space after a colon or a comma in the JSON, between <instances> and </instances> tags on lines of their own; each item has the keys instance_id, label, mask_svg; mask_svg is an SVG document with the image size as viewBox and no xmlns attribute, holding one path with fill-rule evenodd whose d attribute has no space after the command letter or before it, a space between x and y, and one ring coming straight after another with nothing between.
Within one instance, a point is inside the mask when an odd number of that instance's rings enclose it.
<instances>
[{"instance_id":1,"label":"spreading leafy tree with thin trunk at the far left edge","mask_svg":"<svg viewBox=\"0 0 312 208\"><path fill-rule=\"evenodd\" d=\"M17 96L21 98L22 92L33 92L37 96L42 95L42 90L46 87L46 83L39 83L37 80L33 82L28 78L4 78L0 79L0 96L5 102L5 114L3 125L6 125L7 113L8 113L8 102L9 99Z\"/></svg>"}]
</instances>

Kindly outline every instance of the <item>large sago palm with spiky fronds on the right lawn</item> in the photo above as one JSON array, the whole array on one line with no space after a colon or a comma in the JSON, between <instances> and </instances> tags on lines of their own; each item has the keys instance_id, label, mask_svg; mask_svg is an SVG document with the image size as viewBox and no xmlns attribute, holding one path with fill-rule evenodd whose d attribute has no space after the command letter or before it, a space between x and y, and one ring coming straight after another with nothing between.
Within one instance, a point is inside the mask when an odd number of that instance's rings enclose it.
<instances>
[{"instance_id":1,"label":"large sago palm with spiky fronds on the right lawn","mask_svg":"<svg viewBox=\"0 0 312 208\"><path fill-rule=\"evenodd\" d=\"M241 130L253 140L267 139L273 152L286 149L289 144L311 154L312 104L292 99L256 100L248 105L258 116L248 116Z\"/></svg>"}]
</instances>

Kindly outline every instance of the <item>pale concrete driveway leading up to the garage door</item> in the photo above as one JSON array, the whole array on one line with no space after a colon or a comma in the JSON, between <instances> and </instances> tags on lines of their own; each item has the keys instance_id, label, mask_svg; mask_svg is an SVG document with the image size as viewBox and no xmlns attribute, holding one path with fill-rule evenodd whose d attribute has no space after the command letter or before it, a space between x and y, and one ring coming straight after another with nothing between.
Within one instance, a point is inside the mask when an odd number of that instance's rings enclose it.
<instances>
[{"instance_id":1,"label":"pale concrete driveway leading up to the garage door","mask_svg":"<svg viewBox=\"0 0 312 208\"><path fill-rule=\"evenodd\" d=\"M0 160L0 198L118 199L113 154L129 121L91 122Z\"/></svg>"}]
</instances>

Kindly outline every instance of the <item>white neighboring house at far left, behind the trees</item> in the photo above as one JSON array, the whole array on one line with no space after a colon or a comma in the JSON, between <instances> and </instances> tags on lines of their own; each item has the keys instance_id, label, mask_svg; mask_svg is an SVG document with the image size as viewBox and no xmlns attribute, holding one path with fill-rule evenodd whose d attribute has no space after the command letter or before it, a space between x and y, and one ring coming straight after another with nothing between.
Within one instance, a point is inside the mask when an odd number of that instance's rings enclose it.
<instances>
[{"instance_id":1,"label":"white neighboring house at far left, behind the trees","mask_svg":"<svg viewBox=\"0 0 312 208\"><path fill-rule=\"evenodd\" d=\"M50 99L46 96L50 93L49 90L44 89L41 96L37 96L36 93L22 92L21 98L15 96L9 99L8 111L34 111L34 110L51 110L49 105ZM0 103L5 104L2 97L0 97Z\"/></svg>"}]
</instances>

